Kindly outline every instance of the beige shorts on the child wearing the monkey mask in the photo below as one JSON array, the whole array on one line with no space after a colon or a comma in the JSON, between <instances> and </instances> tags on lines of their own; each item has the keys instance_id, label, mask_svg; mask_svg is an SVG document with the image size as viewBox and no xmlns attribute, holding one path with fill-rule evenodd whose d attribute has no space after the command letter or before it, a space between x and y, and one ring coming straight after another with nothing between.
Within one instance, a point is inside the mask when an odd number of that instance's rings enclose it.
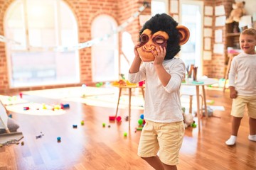
<instances>
[{"instance_id":1,"label":"beige shorts on the child wearing the monkey mask","mask_svg":"<svg viewBox=\"0 0 256 170\"><path fill-rule=\"evenodd\" d=\"M139 140L139 157L156 157L159 152L161 162L178 164L178 153L184 136L183 121L177 123L155 123L146 120Z\"/></svg>"}]
</instances>

